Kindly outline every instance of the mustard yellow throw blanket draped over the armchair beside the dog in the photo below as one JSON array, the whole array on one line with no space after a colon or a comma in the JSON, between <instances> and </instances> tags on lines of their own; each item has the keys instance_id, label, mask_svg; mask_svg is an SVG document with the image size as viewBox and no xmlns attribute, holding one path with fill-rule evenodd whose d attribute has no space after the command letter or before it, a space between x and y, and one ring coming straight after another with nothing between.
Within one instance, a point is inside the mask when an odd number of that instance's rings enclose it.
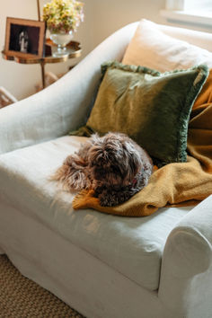
<instances>
[{"instance_id":1,"label":"mustard yellow throw blanket draped over the armchair beside the dog","mask_svg":"<svg viewBox=\"0 0 212 318\"><path fill-rule=\"evenodd\" d=\"M146 188L116 207L101 207L93 190L75 196L73 208L94 208L118 216L149 216L165 206L188 206L212 194L212 71L190 115L188 162L156 170Z\"/></svg>"}]
</instances>

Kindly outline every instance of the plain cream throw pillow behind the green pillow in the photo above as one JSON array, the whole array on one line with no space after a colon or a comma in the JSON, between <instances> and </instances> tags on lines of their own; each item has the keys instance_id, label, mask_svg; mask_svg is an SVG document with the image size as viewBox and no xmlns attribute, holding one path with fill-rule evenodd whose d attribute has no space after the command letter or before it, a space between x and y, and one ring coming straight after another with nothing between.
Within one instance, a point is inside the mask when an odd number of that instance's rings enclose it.
<instances>
[{"instance_id":1,"label":"plain cream throw pillow behind the green pillow","mask_svg":"<svg viewBox=\"0 0 212 318\"><path fill-rule=\"evenodd\" d=\"M160 72L200 64L206 64L211 68L212 53L164 34L155 22L141 20L122 63L146 66Z\"/></svg>"}]
</instances>

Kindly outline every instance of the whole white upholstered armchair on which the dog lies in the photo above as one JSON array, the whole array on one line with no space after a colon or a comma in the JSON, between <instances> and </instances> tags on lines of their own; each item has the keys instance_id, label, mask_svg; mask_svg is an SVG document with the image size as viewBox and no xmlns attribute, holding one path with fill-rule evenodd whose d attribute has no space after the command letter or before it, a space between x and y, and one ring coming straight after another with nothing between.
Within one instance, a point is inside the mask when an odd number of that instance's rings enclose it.
<instances>
[{"instance_id":1,"label":"whole white upholstered armchair on which the dog lies","mask_svg":"<svg viewBox=\"0 0 212 318\"><path fill-rule=\"evenodd\" d=\"M121 60L137 22L115 32L55 84L0 110L0 253L91 318L212 316L212 196L152 216L74 211L49 175L84 137L100 66ZM202 45L212 36L161 26Z\"/></svg>"}]
</instances>

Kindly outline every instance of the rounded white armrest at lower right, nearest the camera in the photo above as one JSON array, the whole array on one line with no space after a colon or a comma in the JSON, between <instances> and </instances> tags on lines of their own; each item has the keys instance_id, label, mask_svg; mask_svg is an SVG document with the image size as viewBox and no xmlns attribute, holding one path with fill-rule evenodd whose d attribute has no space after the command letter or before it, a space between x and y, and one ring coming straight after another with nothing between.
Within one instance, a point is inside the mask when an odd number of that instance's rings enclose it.
<instances>
[{"instance_id":1,"label":"rounded white armrest at lower right, nearest the camera","mask_svg":"<svg viewBox=\"0 0 212 318\"><path fill-rule=\"evenodd\" d=\"M158 296L179 317L212 316L212 195L169 235Z\"/></svg>"}]
</instances>

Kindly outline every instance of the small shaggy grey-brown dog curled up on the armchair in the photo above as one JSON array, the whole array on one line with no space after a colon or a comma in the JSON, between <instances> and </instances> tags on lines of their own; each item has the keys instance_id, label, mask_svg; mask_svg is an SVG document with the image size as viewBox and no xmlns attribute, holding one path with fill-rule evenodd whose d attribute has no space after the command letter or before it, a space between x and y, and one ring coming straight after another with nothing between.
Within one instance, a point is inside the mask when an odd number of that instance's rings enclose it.
<instances>
[{"instance_id":1,"label":"small shaggy grey-brown dog curled up on the armchair","mask_svg":"<svg viewBox=\"0 0 212 318\"><path fill-rule=\"evenodd\" d=\"M102 206L116 206L143 189L153 172L146 151L124 134L97 134L68 155L54 175L66 190L93 189Z\"/></svg>"}]
</instances>

